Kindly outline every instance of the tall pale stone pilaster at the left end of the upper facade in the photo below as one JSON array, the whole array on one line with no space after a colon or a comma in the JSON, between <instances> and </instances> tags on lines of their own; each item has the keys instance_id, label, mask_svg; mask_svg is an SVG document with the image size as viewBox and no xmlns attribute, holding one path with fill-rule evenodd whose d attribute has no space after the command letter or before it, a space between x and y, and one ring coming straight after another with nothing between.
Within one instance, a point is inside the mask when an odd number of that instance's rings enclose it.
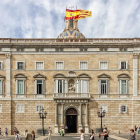
<instances>
[{"instance_id":1,"label":"tall pale stone pilaster at the left end of the upper facade","mask_svg":"<svg viewBox=\"0 0 140 140\"><path fill-rule=\"evenodd\" d=\"M7 53L6 56L6 96L11 97L11 54Z\"/></svg>"}]
</instances>

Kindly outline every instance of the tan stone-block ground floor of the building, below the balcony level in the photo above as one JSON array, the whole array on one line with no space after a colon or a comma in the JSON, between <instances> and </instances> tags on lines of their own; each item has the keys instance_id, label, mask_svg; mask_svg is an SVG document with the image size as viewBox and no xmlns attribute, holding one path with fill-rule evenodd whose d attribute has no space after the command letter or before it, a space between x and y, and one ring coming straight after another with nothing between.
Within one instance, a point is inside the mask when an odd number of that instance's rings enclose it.
<instances>
[{"instance_id":1,"label":"tan stone-block ground floor of the building, below the balcony level","mask_svg":"<svg viewBox=\"0 0 140 140\"><path fill-rule=\"evenodd\" d=\"M45 129L49 126L53 133L58 133L62 125L68 126L68 133L79 133L83 129L88 133L101 126L97 111L102 107L105 111L103 126L110 132L128 132L134 125L140 126L139 99L59 99L59 100L0 100L0 128L8 128L13 134L14 127L24 134L24 131L42 128L39 117L41 108L47 112L44 120Z\"/></svg>"}]
</instances>

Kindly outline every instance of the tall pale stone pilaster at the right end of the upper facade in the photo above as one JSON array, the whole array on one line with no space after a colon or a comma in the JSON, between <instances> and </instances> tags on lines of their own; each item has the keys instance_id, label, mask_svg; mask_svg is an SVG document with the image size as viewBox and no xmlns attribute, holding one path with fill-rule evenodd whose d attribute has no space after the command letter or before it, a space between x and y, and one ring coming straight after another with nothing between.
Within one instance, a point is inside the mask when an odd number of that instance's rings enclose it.
<instances>
[{"instance_id":1,"label":"tall pale stone pilaster at the right end of the upper facade","mask_svg":"<svg viewBox=\"0 0 140 140\"><path fill-rule=\"evenodd\" d=\"M138 53L133 54L133 96L138 95L138 57Z\"/></svg>"}]
</instances>

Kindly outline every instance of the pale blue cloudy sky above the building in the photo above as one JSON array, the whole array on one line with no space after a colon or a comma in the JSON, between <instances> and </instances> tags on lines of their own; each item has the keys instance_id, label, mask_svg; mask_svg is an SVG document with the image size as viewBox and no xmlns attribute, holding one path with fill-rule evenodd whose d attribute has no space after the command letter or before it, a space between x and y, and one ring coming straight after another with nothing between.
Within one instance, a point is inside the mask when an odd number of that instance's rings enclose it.
<instances>
[{"instance_id":1,"label":"pale blue cloudy sky above the building","mask_svg":"<svg viewBox=\"0 0 140 140\"><path fill-rule=\"evenodd\" d=\"M57 38L66 5L92 11L78 21L86 38L140 37L140 0L0 0L0 38Z\"/></svg>"}]
</instances>

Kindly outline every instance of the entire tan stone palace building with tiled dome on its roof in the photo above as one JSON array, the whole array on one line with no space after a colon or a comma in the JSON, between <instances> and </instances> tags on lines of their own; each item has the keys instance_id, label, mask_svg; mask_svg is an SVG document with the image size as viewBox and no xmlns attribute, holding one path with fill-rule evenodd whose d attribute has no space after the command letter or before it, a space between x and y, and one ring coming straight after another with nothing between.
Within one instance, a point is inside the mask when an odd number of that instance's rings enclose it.
<instances>
[{"instance_id":1,"label":"entire tan stone palace building with tiled dome on its roof","mask_svg":"<svg viewBox=\"0 0 140 140\"><path fill-rule=\"evenodd\" d=\"M140 125L140 38L85 38L77 22L58 38L0 38L2 130L37 132L42 107L53 133L100 128L100 107L110 132Z\"/></svg>"}]
</instances>

